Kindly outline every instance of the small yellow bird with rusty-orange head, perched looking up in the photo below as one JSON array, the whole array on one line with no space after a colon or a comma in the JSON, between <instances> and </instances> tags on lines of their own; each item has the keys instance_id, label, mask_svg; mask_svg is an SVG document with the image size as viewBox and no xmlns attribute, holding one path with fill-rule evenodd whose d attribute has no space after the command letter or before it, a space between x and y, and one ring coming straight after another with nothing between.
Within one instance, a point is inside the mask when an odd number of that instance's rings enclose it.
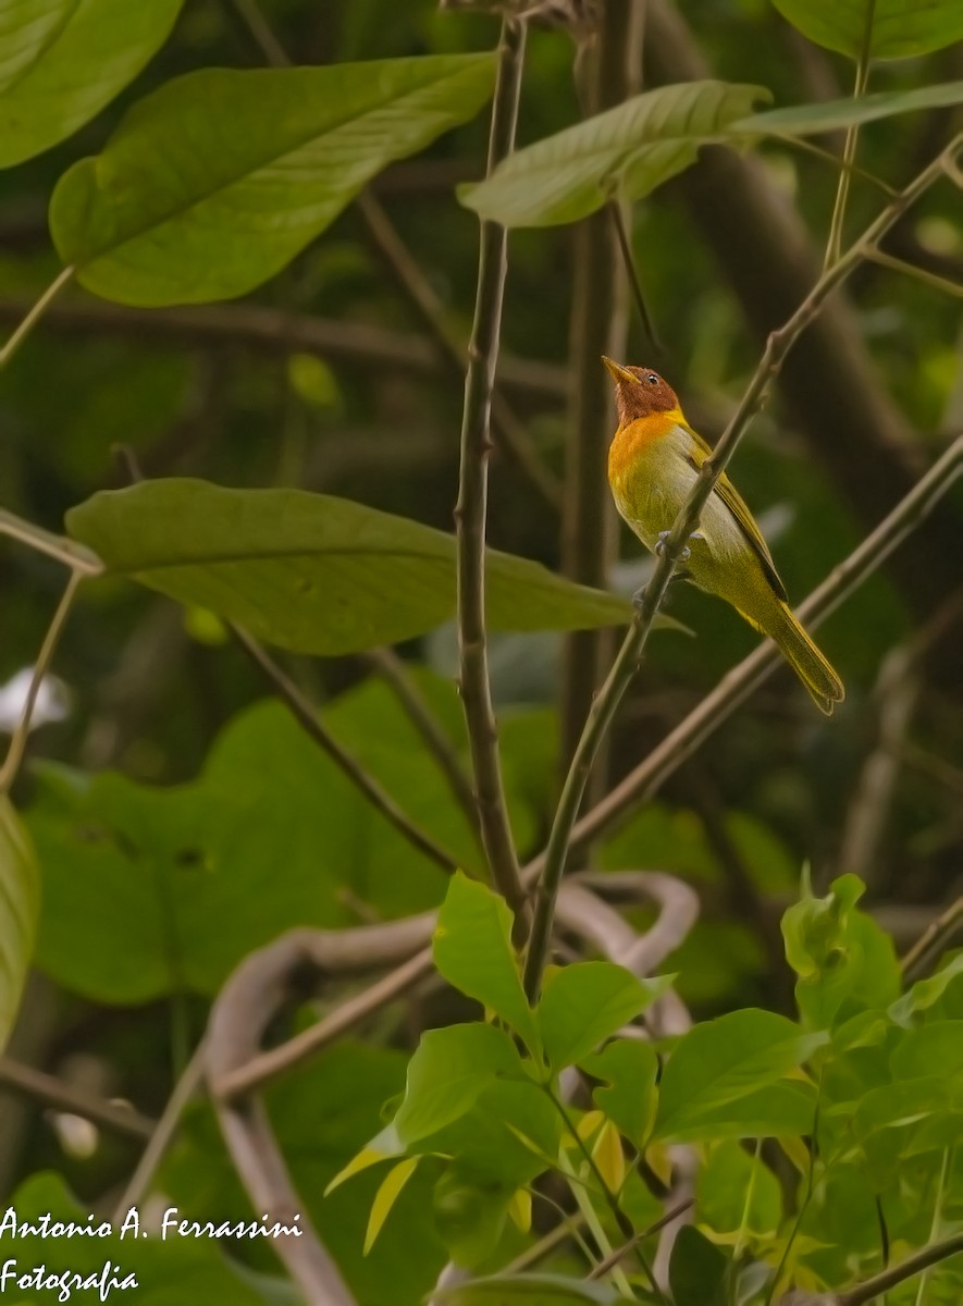
<instances>
[{"instance_id":1,"label":"small yellow bird with rusty-orange head, perched looking up","mask_svg":"<svg viewBox=\"0 0 963 1306\"><path fill-rule=\"evenodd\" d=\"M603 355L616 385L619 430L608 453L616 508L646 549L660 552L711 449L686 422L679 397L651 367ZM844 697L843 682L792 615L786 586L756 520L723 471L681 558L681 575L718 594L783 657L826 716Z\"/></svg>"}]
</instances>

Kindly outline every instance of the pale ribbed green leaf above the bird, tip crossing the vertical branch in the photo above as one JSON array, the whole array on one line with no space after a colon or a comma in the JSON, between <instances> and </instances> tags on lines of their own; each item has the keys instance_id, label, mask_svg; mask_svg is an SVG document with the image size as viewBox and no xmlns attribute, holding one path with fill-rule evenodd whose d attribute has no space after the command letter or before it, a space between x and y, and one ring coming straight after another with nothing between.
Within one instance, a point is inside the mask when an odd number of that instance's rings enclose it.
<instances>
[{"instance_id":1,"label":"pale ribbed green leaf above the bird, tip crossing the vertical branch","mask_svg":"<svg viewBox=\"0 0 963 1306\"><path fill-rule=\"evenodd\" d=\"M458 197L509 227L575 222L613 196L642 199L682 172L699 145L718 140L759 99L771 99L762 86L662 86L515 150L487 180L462 185Z\"/></svg>"}]
</instances>

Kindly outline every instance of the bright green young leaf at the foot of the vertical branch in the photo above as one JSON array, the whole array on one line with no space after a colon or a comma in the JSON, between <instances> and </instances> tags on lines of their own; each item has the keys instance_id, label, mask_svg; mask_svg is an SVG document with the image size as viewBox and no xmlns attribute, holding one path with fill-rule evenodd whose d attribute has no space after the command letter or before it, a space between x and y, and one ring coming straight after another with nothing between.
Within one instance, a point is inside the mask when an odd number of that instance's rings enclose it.
<instances>
[{"instance_id":1,"label":"bright green young leaf at the foot of the vertical branch","mask_svg":"<svg viewBox=\"0 0 963 1306\"><path fill-rule=\"evenodd\" d=\"M438 912L435 964L450 985L501 1016L538 1055L539 1029L518 973L512 923L502 897L458 871Z\"/></svg>"}]
</instances>

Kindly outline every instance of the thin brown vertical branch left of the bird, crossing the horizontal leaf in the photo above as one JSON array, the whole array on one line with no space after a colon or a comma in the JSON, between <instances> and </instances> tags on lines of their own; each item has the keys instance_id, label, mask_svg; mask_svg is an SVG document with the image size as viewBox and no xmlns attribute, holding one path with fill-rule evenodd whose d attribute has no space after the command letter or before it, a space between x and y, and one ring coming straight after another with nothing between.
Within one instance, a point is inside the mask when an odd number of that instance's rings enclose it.
<instances>
[{"instance_id":1,"label":"thin brown vertical branch left of the bird, crossing the horizontal leaf","mask_svg":"<svg viewBox=\"0 0 963 1306\"><path fill-rule=\"evenodd\" d=\"M488 174L510 154L514 145L525 37L525 24L506 17L498 47L498 76L488 142ZM461 691L475 772L482 841L498 892L515 912L519 927L523 927L521 923L525 913L525 892L518 875L518 858L501 778L485 631L485 520L488 458L492 449L489 426L506 272L508 232L497 222L482 222L475 319L465 380L458 503L454 516L458 545Z\"/></svg>"}]
</instances>

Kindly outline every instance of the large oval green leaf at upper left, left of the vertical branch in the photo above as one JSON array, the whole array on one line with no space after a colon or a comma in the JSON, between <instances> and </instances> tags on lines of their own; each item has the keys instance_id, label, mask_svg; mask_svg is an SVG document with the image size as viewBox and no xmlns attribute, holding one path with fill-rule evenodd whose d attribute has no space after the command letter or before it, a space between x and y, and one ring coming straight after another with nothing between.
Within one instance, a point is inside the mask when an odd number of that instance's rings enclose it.
<instances>
[{"instance_id":1,"label":"large oval green leaf at upper left, left of the vertical branch","mask_svg":"<svg viewBox=\"0 0 963 1306\"><path fill-rule=\"evenodd\" d=\"M386 163L472 118L493 73L489 55L451 55L177 77L61 178L54 242L107 299L243 295Z\"/></svg>"}]
</instances>

